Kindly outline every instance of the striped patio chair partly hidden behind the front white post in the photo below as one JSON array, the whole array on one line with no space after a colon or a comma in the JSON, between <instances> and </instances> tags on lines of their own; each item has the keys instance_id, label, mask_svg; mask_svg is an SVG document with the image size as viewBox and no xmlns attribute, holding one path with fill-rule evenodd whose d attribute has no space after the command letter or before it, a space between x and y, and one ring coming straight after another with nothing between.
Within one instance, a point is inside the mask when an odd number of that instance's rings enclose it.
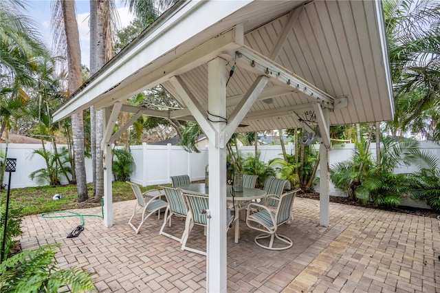
<instances>
[{"instance_id":1,"label":"striped patio chair partly hidden behind the front white post","mask_svg":"<svg viewBox=\"0 0 440 293\"><path fill-rule=\"evenodd\" d=\"M186 204L188 204L189 210L185 222L186 232L184 232L184 235L182 236L181 250L188 250L206 256L207 253L205 251L190 248L186 245L186 242L188 241L188 237L194 225L208 228L209 219L206 215L206 210L208 210L209 203L208 195L203 193L184 193L184 199L186 200ZM227 230L229 230L230 226L232 226L232 222L235 222L235 243L238 243L239 221L237 221L237 217L231 217L230 208L226 209L226 213L226 225L228 227Z\"/></svg>"}]
</instances>

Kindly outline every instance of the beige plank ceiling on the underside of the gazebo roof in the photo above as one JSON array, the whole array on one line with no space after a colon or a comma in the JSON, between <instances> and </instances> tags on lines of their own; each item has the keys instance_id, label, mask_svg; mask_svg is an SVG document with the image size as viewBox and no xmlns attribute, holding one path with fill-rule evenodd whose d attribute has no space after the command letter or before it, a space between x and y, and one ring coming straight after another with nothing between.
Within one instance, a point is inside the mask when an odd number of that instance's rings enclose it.
<instances>
[{"instance_id":1,"label":"beige plank ceiling on the underside of the gazebo roof","mask_svg":"<svg viewBox=\"0 0 440 293\"><path fill-rule=\"evenodd\" d=\"M252 15L256 15L252 23L245 22L246 46L265 56L272 55L276 63L330 96L347 96L347 107L331 111L331 124L391 120L393 104L384 69L384 56L381 53L380 27L372 18L375 15L373 1L313 1L304 7L296 3L291 7L297 7L296 10L301 11L295 15L293 27L289 30L279 54L274 54L273 50L289 21L289 10L284 10L271 21L257 24L254 20L263 17L267 9L281 12L275 8L281 5L280 2L272 3L272 6L264 8L252 3L242 9L245 14L252 10ZM282 6L286 5L287 3L283 3ZM244 17L242 10L225 18L223 23ZM232 58L229 61L227 72L234 65ZM201 65L181 75L192 94L204 105L204 109L207 109L208 102L206 68L206 64ZM245 94L258 76L236 64L234 74L228 82L227 96L230 98ZM163 85L179 99L179 94L173 92L169 83ZM266 89L276 86L269 82ZM228 114L232 113L235 105L236 103L228 107ZM300 117L304 115L304 111L313 109L311 100L305 94L292 92L256 100L248 114L252 116L267 109L283 112L295 107ZM243 124L249 124L249 127L239 127L236 131L271 129L276 123L287 128L301 127L294 118L284 114L276 118L274 116L276 114L262 115L252 122L245 122L245 118ZM265 121L263 117L269 120Z\"/></svg>"}]
</instances>

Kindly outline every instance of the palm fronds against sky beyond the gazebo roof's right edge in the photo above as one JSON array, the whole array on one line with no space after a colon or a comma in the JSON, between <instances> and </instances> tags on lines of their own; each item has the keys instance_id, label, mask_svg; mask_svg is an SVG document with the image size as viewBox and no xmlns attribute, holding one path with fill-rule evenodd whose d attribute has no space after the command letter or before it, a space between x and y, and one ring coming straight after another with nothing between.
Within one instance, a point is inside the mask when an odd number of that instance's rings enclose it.
<instances>
[{"instance_id":1,"label":"palm fronds against sky beyond the gazebo roof's right edge","mask_svg":"<svg viewBox=\"0 0 440 293\"><path fill-rule=\"evenodd\" d=\"M440 140L440 3L384 1L396 115L392 129ZM432 135L430 135L432 133Z\"/></svg>"}]
</instances>

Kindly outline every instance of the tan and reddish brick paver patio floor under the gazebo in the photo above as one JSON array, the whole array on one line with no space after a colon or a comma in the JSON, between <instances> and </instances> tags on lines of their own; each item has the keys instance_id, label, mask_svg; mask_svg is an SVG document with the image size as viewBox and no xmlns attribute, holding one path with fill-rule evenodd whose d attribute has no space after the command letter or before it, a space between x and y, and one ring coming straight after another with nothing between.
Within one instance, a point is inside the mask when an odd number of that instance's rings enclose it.
<instances>
[{"instance_id":1,"label":"tan and reddish brick paver patio floor under the gazebo","mask_svg":"<svg viewBox=\"0 0 440 293\"><path fill-rule=\"evenodd\" d=\"M78 217L24 217L23 249L61 243L61 268L88 270L96 292L205 292L206 257L180 250L158 234L162 217L148 219L140 233L127 225L134 201L113 204L111 228L85 217L85 230L67 234ZM77 210L99 214L100 208ZM329 227L319 226L319 202L297 197L295 220L281 235L294 240L289 250L264 250L256 231L241 221L241 239L228 232L228 292L440 292L440 221L384 210L330 204ZM184 221L174 220L179 234ZM171 230L170 230L171 231ZM203 247L195 227L190 245Z\"/></svg>"}]
</instances>

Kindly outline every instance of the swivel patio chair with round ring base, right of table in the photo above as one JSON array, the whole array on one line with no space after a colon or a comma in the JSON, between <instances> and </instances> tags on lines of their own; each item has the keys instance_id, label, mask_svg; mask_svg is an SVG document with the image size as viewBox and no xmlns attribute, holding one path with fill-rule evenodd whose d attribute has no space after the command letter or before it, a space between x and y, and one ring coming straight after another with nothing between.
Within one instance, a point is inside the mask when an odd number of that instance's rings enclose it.
<instances>
[{"instance_id":1,"label":"swivel patio chair with round ring base, right of table","mask_svg":"<svg viewBox=\"0 0 440 293\"><path fill-rule=\"evenodd\" d=\"M278 235L276 231L278 226L287 223L287 221L291 219L292 206L294 204L295 195L298 191L299 189L288 191L287 193L283 193L280 197L273 196L273 200L277 202L275 210L263 204L256 204L254 202L250 203L250 208L248 208L248 214L246 215L246 224L248 224L251 229L264 232L264 234L257 235L254 238L254 241L258 246L269 250L285 250L292 247L294 244L292 239L283 235ZM252 213L252 210L258 211ZM261 241L261 239L266 238L270 238L267 245ZM275 243L276 247L274 247L275 239L281 241L281 244Z\"/></svg>"}]
</instances>

